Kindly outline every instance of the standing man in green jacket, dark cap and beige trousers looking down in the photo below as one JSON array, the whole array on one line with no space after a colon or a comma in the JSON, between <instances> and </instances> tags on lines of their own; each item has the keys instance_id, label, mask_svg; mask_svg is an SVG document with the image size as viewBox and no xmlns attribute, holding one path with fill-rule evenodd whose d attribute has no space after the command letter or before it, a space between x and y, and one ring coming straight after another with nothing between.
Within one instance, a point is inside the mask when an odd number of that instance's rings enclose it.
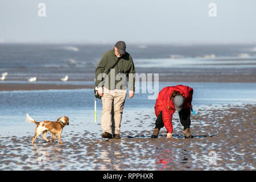
<instances>
[{"instance_id":1,"label":"standing man in green jacket, dark cap and beige trousers looking down","mask_svg":"<svg viewBox=\"0 0 256 182\"><path fill-rule=\"evenodd\" d=\"M96 68L96 87L102 100L101 126L103 138L120 138L120 127L125 105L127 78L129 98L135 92L135 68L133 59L125 51L123 41L104 53Z\"/></svg>"}]
</instances>

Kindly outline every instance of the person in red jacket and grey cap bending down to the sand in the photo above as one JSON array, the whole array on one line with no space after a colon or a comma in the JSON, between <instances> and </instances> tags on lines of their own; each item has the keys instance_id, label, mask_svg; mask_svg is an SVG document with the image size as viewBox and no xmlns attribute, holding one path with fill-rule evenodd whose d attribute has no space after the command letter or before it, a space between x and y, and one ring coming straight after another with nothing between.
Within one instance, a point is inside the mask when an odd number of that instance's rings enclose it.
<instances>
[{"instance_id":1,"label":"person in red jacket and grey cap bending down to the sand","mask_svg":"<svg viewBox=\"0 0 256 182\"><path fill-rule=\"evenodd\" d=\"M166 127L167 138L172 137L172 114L179 111L181 125L184 127L184 137L191 137L190 113L193 89L189 86L176 85L163 88L155 102L155 129L151 138L157 138L162 127Z\"/></svg>"}]
</instances>

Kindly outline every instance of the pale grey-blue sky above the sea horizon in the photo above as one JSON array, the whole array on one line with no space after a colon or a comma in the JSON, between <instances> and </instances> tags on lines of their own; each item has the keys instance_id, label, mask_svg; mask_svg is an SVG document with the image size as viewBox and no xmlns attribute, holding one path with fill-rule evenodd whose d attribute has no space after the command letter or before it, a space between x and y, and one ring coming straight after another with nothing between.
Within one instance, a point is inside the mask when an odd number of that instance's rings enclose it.
<instances>
[{"instance_id":1,"label":"pale grey-blue sky above the sea horizon","mask_svg":"<svg viewBox=\"0 0 256 182\"><path fill-rule=\"evenodd\" d=\"M255 43L255 7L255 0L1 0L0 43Z\"/></svg>"}]
</instances>

